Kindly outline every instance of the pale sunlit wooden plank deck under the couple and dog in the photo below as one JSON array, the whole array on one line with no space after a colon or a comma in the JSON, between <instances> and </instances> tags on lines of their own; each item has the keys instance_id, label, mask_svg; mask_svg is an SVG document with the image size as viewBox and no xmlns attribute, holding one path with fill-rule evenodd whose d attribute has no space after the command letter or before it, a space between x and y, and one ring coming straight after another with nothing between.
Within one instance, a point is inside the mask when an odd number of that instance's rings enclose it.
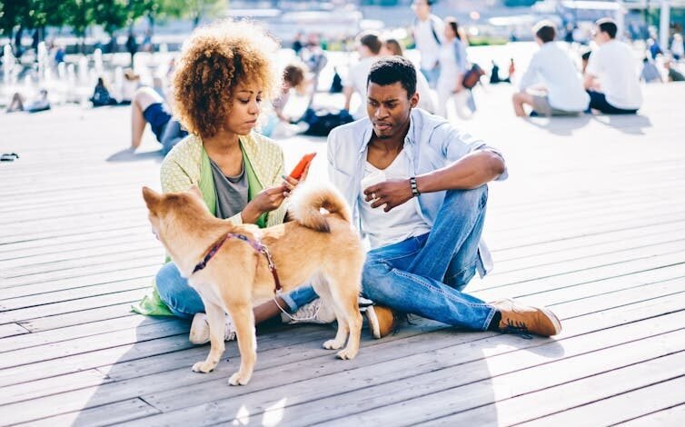
<instances>
[{"instance_id":1,"label":"pale sunlit wooden plank deck under the couple and dog","mask_svg":"<svg viewBox=\"0 0 685 427\"><path fill-rule=\"evenodd\" d=\"M0 113L0 151L21 155L0 164L0 424L682 425L685 85L649 86L637 117L553 122L512 117L510 90L479 94L465 124L511 174L491 185L495 273L467 289L548 305L563 333L414 320L380 341L364 331L342 362L321 348L330 327L272 327L239 388L235 343L194 373L208 347L188 323L129 312L163 251L140 197L160 158L117 154L128 110ZM325 150L283 146L288 164Z\"/></svg>"}]
</instances>

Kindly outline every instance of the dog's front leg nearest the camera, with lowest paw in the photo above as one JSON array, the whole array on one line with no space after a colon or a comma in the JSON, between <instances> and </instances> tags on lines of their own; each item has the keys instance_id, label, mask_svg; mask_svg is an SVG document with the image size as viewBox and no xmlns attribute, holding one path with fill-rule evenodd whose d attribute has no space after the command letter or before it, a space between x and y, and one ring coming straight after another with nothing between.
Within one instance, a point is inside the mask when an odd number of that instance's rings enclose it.
<instances>
[{"instance_id":1,"label":"dog's front leg nearest the camera, with lowest paw","mask_svg":"<svg viewBox=\"0 0 685 427\"><path fill-rule=\"evenodd\" d=\"M245 385L252 378L257 361L257 338L254 332L254 315L251 303L232 303L228 311L233 317L235 333L238 336L240 369L228 379L231 385Z\"/></svg>"}]
</instances>

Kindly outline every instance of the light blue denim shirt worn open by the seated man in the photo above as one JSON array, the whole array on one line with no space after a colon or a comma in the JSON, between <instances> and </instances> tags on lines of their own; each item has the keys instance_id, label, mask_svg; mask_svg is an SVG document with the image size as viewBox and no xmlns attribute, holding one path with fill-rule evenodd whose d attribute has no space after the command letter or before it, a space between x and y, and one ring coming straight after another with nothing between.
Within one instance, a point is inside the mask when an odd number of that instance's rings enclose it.
<instances>
[{"instance_id":1,"label":"light blue denim shirt worn open by the seated man","mask_svg":"<svg viewBox=\"0 0 685 427\"><path fill-rule=\"evenodd\" d=\"M362 228L358 196L361 191L367 145L371 141L372 132L372 123L365 117L351 124L336 127L328 135L328 174L350 204L352 223L359 230ZM404 149L409 157L409 167L413 175L435 171L479 150L489 150L501 156L499 151L480 139L459 130L442 117L429 114L420 108L412 110L409 132L404 138ZM507 176L505 169L496 180L504 180ZM444 196L443 191L424 193L407 203L415 204L416 211L429 226L432 226ZM478 245L478 252L477 268L482 277L491 271L492 257L482 240Z\"/></svg>"}]
</instances>

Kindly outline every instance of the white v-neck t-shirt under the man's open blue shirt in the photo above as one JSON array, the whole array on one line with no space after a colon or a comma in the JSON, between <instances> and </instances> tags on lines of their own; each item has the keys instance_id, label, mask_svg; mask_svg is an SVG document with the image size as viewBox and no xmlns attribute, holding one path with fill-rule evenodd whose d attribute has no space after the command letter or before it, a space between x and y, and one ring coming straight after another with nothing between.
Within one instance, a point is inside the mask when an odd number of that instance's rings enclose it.
<instances>
[{"instance_id":1,"label":"white v-neck t-shirt under the man's open blue shirt","mask_svg":"<svg viewBox=\"0 0 685 427\"><path fill-rule=\"evenodd\" d=\"M372 249L400 243L410 237L429 233L431 228L419 214L415 199L400 204L390 212L383 212L383 206L372 208L366 202L364 190L373 184L391 179L409 178L409 158L404 150L395 157L385 169L381 170L366 162L364 178L359 192L359 214L362 219L362 232L368 234Z\"/></svg>"}]
</instances>

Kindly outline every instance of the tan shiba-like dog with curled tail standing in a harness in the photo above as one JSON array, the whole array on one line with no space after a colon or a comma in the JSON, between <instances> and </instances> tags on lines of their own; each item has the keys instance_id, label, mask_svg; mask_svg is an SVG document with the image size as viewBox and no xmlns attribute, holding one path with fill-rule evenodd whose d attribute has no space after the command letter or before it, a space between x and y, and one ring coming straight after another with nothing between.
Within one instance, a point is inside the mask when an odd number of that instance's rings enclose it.
<instances>
[{"instance_id":1,"label":"tan shiba-like dog with curled tail standing in a harness","mask_svg":"<svg viewBox=\"0 0 685 427\"><path fill-rule=\"evenodd\" d=\"M337 353L342 360L359 352L362 314L357 299L365 255L350 208L333 187L299 185L289 197L293 221L262 230L214 217L196 186L168 194L144 187L143 198L153 233L200 293L207 313L211 349L206 360L194 364L194 372L211 372L220 361L223 317L230 313L241 363L229 383L250 381L257 357L253 301L273 298L279 282L287 291L311 280L338 322L335 338L323 347L338 350L347 343Z\"/></svg>"}]
</instances>

